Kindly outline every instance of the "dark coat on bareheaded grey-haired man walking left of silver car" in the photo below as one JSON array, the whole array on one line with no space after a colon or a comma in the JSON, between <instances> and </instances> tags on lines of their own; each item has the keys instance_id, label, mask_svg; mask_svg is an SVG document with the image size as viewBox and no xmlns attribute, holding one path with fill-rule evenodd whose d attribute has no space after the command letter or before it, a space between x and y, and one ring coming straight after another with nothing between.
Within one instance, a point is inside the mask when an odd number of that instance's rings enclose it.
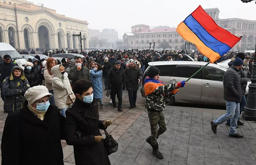
<instances>
[{"instance_id":1,"label":"dark coat on bareheaded grey-haired man walking left of silver car","mask_svg":"<svg viewBox=\"0 0 256 165\"><path fill-rule=\"evenodd\" d=\"M128 67L125 68L125 76L126 76L126 90L128 91L135 91L139 90L139 80L140 82L142 80L142 71L138 66L135 66L133 68Z\"/></svg>"}]
</instances>

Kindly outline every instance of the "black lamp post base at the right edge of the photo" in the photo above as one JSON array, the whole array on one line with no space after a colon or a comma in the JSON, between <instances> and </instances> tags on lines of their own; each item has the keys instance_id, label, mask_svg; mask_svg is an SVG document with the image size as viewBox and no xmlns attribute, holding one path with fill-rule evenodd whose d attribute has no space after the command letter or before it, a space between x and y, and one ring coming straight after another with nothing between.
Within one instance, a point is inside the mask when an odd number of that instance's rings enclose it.
<instances>
[{"instance_id":1,"label":"black lamp post base at the right edge of the photo","mask_svg":"<svg viewBox=\"0 0 256 165\"><path fill-rule=\"evenodd\" d=\"M256 51L256 43L255 43ZM252 70L252 77L247 95L246 106L244 107L243 119L247 121L256 121L256 54L254 55L254 63Z\"/></svg>"}]
</instances>

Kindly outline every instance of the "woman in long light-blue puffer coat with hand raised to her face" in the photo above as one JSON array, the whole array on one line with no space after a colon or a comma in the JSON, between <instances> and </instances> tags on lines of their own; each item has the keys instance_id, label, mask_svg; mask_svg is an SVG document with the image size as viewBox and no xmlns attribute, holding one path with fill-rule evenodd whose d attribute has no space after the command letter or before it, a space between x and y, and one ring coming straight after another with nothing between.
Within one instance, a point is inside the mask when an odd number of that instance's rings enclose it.
<instances>
[{"instance_id":1,"label":"woman in long light-blue puffer coat with hand raised to her face","mask_svg":"<svg viewBox=\"0 0 256 165\"><path fill-rule=\"evenodd\" d=\"M90 72L91 82L93 83L94 98L99 101L100 108L103 109L103 85L102 85L102 65L96 64Z\"/></svg>"}]
</instances>

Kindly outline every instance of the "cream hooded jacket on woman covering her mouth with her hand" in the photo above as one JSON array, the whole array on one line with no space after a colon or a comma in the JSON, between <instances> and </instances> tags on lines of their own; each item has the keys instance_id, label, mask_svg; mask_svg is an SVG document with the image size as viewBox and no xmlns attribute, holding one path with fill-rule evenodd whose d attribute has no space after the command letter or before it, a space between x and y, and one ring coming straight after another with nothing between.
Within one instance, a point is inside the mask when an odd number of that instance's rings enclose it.
<instances>
[{"instance_id":1,"label":"cream hooded jacket on woman covering her mouth with her hand","mask_svg":"<svg viewBox=\"0 0 256 165\"><path fill-rule=\"evenodd\" d=\"M55 105L59 109L68 108L71 105L67 104L67 97L70 94L73 94L73 91L70 86L70 82L67 76L62 75L59 71L60 65L55 65L51 68L51 73L54 76L52 79L52 88L54 93ZM67 73L65 73L67 74Z\"/></svg>"}]
</instances>

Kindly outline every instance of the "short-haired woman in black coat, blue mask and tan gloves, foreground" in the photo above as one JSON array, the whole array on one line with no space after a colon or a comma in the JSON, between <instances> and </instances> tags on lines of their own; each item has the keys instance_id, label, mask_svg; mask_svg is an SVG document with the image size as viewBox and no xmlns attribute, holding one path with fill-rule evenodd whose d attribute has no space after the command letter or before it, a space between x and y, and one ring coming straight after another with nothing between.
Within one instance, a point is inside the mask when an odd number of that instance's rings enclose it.
<instances>
[{"instance_id":1,"label":"short-haired woman in black coat, blue mask and tan gloves, foreground","mask_svg":"<svg viewBox=\"0 0 256 165\"><path fill-rule=\"evenodd\" d=\"M74 146L75 164L110 165L99 129L106 129L112 121L99 120L92 87L93 83L85 79L75 83L75 103L66 111L66 142Z\"/></svg>"}]
</instances>

